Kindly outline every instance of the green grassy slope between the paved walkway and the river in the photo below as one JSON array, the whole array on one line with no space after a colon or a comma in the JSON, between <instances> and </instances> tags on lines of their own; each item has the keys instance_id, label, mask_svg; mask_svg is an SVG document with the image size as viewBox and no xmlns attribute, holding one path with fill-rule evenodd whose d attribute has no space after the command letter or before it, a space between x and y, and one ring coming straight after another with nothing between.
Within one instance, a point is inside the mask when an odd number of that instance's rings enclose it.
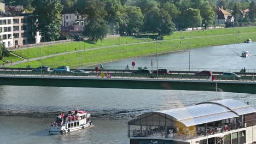
<instances>
[{"instance_id":1,"label":"green grassy slope between the paved walkway and the river","mask_svg":"<svg viewBox=\"0 0 256 144\"><path fill-rule=\"evenodd\" d=\"M240 34L238 34L238 31L240 31ZM241 38L240 38L240 35L241 35ZM182 36L185 37L185 39L179 39ZM173 37L176 40L173 40ZM164 53L164 52L184 50L184 49L194 49L196 47L243 43L243 41L245 41L248 38L251 38L253 41L255 41L256 40L255 37L256 37L255 27L213 29L213 30L207 30L207 31L176 32L173 35L165 37L165 40L167 41L159 41L158 52ZM131 37L125 37L121 39L124 40L127 38L131 38ZM191 39L187 39L187 38L191 38ZM105 42L108 40L110 41L116 40L115 42L112 42L112 44L116 44L116 42L119 41L118 38L113 38L113 39L106 39ZM127 43L128 44L132 43L132 41L131 42L127 41ZM137 39L134 39L133 43L137 43ZM104 41L103 41L103 44L104 44ZM109 42L109 44L111 43ZM155 54L156 52L155 48L156 48L155 43L147 43L147 44L110 47L108 49L100 49L100 50L94 50L94 51L85 51L81 53L81 57L82 57L81 63L82 63L82 67L86 67L87 65L91 65L91 64L103 63L108 61L117 61L119 59L131 58L131 57L137 57L137 56L152 55L152 54ZM35 49L40 50L38 48L35 48ZM44 50L43 53L44 55L45 53L47 55L47 51L45 52ZM50 68L55 68L55 67L58 67L59 65L69 65L71 68L75 68L75 67L79 67L79 61L80 61L79 57L80 57L79 53L71 53L71 54L62 55L62 56L46 58L46 59L43 59L43 65L49 65ZM40 60L13 65L11 67L26 67L28 64L30 64L31 67L37 67L38 65L40 65Z\"/></svg>"}]
</instances>

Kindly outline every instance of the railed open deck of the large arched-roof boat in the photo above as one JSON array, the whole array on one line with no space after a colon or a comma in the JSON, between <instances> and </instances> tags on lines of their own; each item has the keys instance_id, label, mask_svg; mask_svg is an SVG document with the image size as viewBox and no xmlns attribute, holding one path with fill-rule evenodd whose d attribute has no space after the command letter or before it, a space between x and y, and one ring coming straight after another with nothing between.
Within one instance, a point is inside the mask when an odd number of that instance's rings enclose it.
<instances>
[{"instance_id":1,"label":"railed open deck of the large arched-roof boat","mask_svg":"<svg viewBox=\"0 0 256 144\"><path fill-rule=\"evenodd\" d=\"M128 137L152 137L152 138L165 138L165 139L179 139L179 140L190 140L196 139L198 137L209 136L214 134L221 134L225 131L241 129L246 127L252 127L256 125L256 121L247 121L244 123L235 123L229 125L223 125L216 128L207 128L200 131L176 131L175 133L170 133L165 130L130 130L128 131Z\"/></svg>"}]
</instances>

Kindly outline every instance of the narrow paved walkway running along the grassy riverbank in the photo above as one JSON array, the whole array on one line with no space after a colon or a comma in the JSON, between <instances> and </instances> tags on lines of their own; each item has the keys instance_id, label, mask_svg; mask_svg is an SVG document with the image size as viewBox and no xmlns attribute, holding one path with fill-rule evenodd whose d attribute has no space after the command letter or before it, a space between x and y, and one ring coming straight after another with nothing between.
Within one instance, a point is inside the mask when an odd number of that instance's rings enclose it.
<instances>
[{"instance_id":1,"label":"narrow paved walkway running along the grassy riverbank","mask_svg":"<svg viewBox=\"0 0 256 144\"><path fill-rule=\"evenodd\" d=\"M225 35L234 35L234 34L225 34ZM236 35L239 35L239 34L236 34ZM224 36L224 35L212 35L212 36L208 36L208 37L195 37L195 38L184 38L184 39L210 38L210 37L219 37L219 36ZM158 40L158 41L161 42L161 41L174 41L174 40L184 40L184 39L168 39L168 40ZM66 54L69 54L69 53L76 53L76 52L83 52L83 51L94 51L94 50L98 50L98 49L107 49L107 48L110 48L110 47L125 46L125 45L137 45L137 44L147 44L147 43L156 43L156 41L146 41L146 42L142 42L142 43L131 43L131 44L121 44L121 45L111 45L111 46L96 47L96 48L86 49L86 50L70 51L70 52L67 52L67 53L66 52L56 53L54 55L42 56L42 59L50 58L50 57L55 57L55 56L66 55ZM14 55L14 53L12 53L12 54ZM22 58L22 59L24 59L24 58ZM21 63L26 63L26 62L31 62L31 61L37 61L39 59L41 59L41 57L31 58L31 59L28 59L28 60L24 59L23 61L14 62L13 65L21 64ZM11 65L11 64L5 64L5 66L9 66L9 65Z\"/></svg>"}]
</instances>

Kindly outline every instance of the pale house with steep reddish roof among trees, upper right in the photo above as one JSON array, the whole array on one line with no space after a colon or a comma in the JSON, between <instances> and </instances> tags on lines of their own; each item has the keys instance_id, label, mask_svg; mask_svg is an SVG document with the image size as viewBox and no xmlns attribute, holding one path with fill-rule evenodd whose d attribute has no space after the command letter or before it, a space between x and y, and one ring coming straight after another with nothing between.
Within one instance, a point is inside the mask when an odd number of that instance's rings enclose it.
<instances>
[{"instance_id":1,"label":"pale house with steep reddish roof among trees, upper right","mask_svg":"<svg viewBox=\"0 0 256 144\"><path fill-rule=\"evenodd\" d=\"M223 7L219 7L217 19L215 25L225 25L226 21L234 22L235 17L232 16L228 11L224 10Z\"/></svg>"}]
</instances>

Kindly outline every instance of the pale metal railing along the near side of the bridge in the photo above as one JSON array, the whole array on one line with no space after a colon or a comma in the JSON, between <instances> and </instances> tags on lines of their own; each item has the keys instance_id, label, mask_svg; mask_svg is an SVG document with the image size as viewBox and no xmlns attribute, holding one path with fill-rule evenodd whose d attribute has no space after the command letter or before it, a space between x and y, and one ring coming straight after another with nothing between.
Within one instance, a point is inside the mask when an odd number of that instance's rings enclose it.
<instances>
[{"instance_id":1,"label":"pale metal railing along the near side of the bridge","mask_svg":"<svg viewBox=\"0 0 256 144\"><path fill-rule=\"evenodd\" d=\"M206 75L195 75L195 72L187 71L171 71L171 74L135 74L131 73L130 70L102 70L98 73L91 71L89 74L74 74L73 72L54 72L54 71L31 71L31 70L0 70L0 75L11 75L11 76L53 76L53 77L101 77L100 73L111 74L112 78L125 78L125 79L160 79L160 80L208 80L210 76ZM214 81L250 81L254 82L254 73L241 73L241 77L223 77L221 73L216 72L214 74Z\"/></svg>"}]
</instances>

